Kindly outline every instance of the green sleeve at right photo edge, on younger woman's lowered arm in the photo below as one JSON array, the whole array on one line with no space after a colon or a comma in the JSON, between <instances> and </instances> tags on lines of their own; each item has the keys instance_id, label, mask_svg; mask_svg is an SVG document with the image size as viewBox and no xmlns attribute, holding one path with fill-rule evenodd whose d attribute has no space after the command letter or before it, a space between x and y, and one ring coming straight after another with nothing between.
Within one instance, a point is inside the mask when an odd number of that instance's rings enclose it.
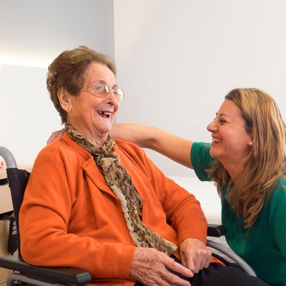
<instances>
[{"instance_id":1,"label":"green sleeve at right photo edge, on younger woman's lowered arm","mask_svg":"<svg viewBox=\"0 0 286 286\"><path fill-rule=\"evenodd\" d=\"M275 190L272 198L272 226L277 245L286 258L286 190Z\"/></svg>"}]
</instances>

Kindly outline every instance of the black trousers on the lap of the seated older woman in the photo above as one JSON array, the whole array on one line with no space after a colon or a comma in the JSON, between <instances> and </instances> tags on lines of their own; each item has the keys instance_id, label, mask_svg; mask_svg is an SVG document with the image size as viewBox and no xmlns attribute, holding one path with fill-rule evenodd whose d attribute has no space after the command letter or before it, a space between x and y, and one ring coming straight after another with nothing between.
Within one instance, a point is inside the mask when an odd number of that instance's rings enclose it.
<instances>
[{"instance_id":1,"label":"black trousers on the lap of the seated older woman","mask_svg":"<svg viewBox=\"0 0 286 286\"><path fill-rule=\"evenodd\" d=\"M170 255L176 262L181 263L174 255ZM168 269L180 278L187 280L192 286L267 286L262 280L249 276L237 267L223 266L220 263L210 263L208 268L204 268L194 277L188 278L180 273ZM136 282L134 286L144 286Z\"/></svg>"}]
</instances>

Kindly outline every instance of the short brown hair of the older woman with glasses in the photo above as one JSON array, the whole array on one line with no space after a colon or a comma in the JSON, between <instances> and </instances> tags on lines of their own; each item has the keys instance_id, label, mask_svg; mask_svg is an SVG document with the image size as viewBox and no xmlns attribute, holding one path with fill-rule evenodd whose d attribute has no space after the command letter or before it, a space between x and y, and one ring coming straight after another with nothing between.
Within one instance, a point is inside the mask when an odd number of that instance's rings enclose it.
<instances>
[{"instance_id":1,"label":"short brown hair of the older woman with glasses","mask_svg":"<svg viewBox=\"0 0 286 286\"><path fill-rule=\"evenodd\" d=\"M108 67L116 76L116 65L113 59L85 46L73 50L63 51L48 67L47 89L55 109L61 116L61 122L66 123L67 113L61 108L57 97L60 87L73 96L80 93L80 86L84 85L84 73L90 63L100 63Z\"/></svg>"}]
</instances>

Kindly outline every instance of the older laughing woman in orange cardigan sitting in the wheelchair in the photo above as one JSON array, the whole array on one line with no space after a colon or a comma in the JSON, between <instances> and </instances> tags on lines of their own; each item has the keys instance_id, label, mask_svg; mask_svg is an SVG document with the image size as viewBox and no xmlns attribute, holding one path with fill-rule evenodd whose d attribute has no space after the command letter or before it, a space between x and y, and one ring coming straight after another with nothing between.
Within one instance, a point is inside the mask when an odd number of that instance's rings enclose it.
<instances>
[{"instance_id":1,"label":"older laughing woman in orange cardigan sitting in the wheelchair","mask_svg":"<svg viewBox=\"0 0 286 286\"><path fill-rule=\"evenodd\" d=\"M25 191L25 261L86 269L94 285L265 285L211 260L199 202L138 146L112 139L124 96L115 75L114 62L87 47L49 66L66 132L39 153Z\"/></svg>"}]
</instances>

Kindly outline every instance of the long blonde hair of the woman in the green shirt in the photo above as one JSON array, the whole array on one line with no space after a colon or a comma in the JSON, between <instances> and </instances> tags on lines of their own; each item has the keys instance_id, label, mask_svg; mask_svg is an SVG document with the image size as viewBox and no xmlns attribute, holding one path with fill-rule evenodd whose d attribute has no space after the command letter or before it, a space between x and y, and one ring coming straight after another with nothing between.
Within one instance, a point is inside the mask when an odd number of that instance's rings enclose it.
<instances>
[{"instance_id":1,"label":"long blonde hair of the woman in the green shirt","mask_svg":"<svg viewBox=\"0 0 286 286\"><path fill-rule=\"evenodd\" d=\"M244 227L255 223L267 195L271 196L279 178L286 174L286 126L273 98L256 88L236 88L225 99L241 110L245 129L252 137L252 147L244 160L244 170L234 184L228 184L225 199L237 216L244 218ZM221 189L229 174L219 160L207 170L212 181Z\"/></svg>"}]
</instances>

